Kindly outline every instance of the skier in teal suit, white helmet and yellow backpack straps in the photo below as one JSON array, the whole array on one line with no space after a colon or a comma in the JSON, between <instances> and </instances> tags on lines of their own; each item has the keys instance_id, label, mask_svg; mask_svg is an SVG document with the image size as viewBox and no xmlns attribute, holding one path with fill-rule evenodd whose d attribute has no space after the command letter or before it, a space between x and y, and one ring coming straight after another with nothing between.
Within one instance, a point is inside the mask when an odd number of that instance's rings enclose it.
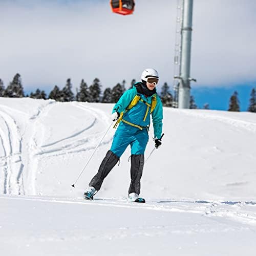
<instances>
[{"instance_id":1,"label":"skier in teal suit, white helmet and yellow backpack straps","mask_svg":"<svg viewBox=\"0 0 256 256\"><path fill-rule=\"evenodd\" d=\"M144 165L144 152L148 142L148 129L150 114L154 127L155 147L162 144L163 106L156 92L158 72L155 69L146 69L142 72L141 82L134 84L133 88L124 92L112 111L112 120L118 124L112 146L106 153L99 166L98 173L92 178L83 197L93 200L93 196L100 189L104 178L119 161L126 147L131 145L131 184L129 187L129 200L145 202L139 198L140 179Z\"/></svg>"}]
</instances>

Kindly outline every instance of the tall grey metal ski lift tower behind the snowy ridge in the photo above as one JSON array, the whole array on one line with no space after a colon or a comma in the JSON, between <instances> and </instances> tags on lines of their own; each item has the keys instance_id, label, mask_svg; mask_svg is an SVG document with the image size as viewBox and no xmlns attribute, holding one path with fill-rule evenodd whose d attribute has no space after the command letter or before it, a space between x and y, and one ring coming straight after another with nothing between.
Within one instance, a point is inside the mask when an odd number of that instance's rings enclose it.
<instances>
[{"instance_id":1,"label":"tall grey metal ski lift tower behind the snowy ridge","mask_svg":"<svg viewBox=\"0 0 256 256\"><path fill-rule=\"evenodd\" d=\"M193 0L182 0L180 69L179 76L174 77L179 80L178 87L175 88L176 101L178 101L175 105L179 109L189 109L190 81L196 81L190 78L192 14Z\"/></svg>"}]
</instances>

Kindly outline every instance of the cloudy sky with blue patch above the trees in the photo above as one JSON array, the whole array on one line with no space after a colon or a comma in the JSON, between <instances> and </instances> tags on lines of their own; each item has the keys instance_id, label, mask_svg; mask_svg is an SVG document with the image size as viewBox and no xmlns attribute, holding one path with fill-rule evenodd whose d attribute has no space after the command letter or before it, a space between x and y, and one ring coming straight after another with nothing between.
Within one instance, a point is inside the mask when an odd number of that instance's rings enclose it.
<instances>
[{"instance_id":1,"label":"cloudy sky with blue patch above the trees","mask_svg":"<svg viewBox=\"0 0 256 256\"><path fill-rule=\"evenodd\" d=\"M177 0L135 2L134 14L122 16L109 0L1 0L0 78L7 86L20 73L28 93L62 88L67 78L74 90L95 77L102 89L123 79L129 88L152 67L160 86L172 88ZM247 109L256 87L255 9L252 0L194 0L190 76L199 107L226 110L238 90Z\"/></svg>"}]
</instances>

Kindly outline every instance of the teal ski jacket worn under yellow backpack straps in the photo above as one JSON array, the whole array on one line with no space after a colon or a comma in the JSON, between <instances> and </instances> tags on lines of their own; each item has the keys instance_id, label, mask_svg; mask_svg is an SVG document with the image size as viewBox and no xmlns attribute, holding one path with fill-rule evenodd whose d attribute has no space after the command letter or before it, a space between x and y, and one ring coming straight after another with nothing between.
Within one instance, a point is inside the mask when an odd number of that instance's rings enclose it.
<instances>
[{"instance_id":1,"label":"teal ski jacket worn under yellow backpack straps","mask_svg":"<svg viewBox=\"0 0 256 256\"><path fill-rule=\"evenodd\" d=\"M132 89L129 89L124 92L124 94L120 97L118 102L115 104L112 113L124 112L123 119L125 121L131 122L133 124L137 124L139 126L148 126L150 125L150 111L148 112L146 119L144 121L143 119L147 111L147 105L144 102L139 100L138 103L135 106L133 106L132 109L128 110L127 112L125 112L125 110L127 106L130 105L131 101L134 99L136 95L139 95L142 100L144 100L150 105L152 102L152 98L154 97L154 95L156 95L157 104L155 109L151 113L151 115L152 115L152 121L153 121L153 127L154 127L154 136L155 138L160 139L162 135L162 127L163 127L163 124L162 124L163 105L162 105L161 99L157 93L148 97L138 93L136 89L136 84Z\"/></svg>"}]
</instances>

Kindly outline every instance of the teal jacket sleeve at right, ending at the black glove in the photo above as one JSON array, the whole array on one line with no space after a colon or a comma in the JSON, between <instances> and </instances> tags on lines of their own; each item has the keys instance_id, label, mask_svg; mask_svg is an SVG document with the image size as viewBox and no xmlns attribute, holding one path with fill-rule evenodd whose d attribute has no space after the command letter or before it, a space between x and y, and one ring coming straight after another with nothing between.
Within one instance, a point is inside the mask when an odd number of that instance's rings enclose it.
<instances>
[{"instance_id":1,"label":"teal jacket sleeve at right, ending at the black glove","mask_svg":"<svg viewBox=\"0 0 256 256\"><path fill-rule=\"evenodd\" d=\"M155 138L160 139L162 136L162 129L163 129L163 104L160 97L157 95L157 104L156 108L152 112L152 121L154 127L154 136Z\"/></svg>"}]
</instances>

